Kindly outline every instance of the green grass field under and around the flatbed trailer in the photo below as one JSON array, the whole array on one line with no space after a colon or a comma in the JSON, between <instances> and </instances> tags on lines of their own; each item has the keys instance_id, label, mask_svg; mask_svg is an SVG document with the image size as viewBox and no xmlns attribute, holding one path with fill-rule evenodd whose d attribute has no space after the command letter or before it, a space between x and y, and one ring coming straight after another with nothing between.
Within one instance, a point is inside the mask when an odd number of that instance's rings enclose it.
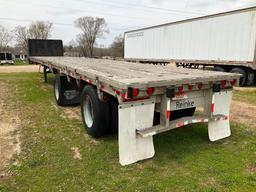
<instances>
[{"instance_id":1,"label":"green grass field under and around the flatbed trailer","mask_svg":"<svg viewBox=\"0 0 256 192\"><path fill-rule=\"evenodd\" d=\"M22 119L22 150L12 159L18 163L7 167L10 174L0 178L0 191L256 189L256 127L232 123L232 136L215 143L208 140L206 125L173 130L154 137L154 158L121 167L117 136L89 137L81 121L56 106L52 85L40 74L0 74L0 82L12 92L4 99Z\"/></svg>"}]
</instances>

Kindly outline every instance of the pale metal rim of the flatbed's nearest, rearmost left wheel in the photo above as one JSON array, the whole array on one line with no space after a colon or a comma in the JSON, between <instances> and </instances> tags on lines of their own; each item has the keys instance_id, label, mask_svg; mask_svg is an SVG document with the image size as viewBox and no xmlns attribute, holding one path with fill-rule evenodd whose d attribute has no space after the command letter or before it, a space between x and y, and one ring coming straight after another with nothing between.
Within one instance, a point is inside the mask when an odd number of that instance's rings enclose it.
<instances>
[{"instance_id":1,"label":"pale metal rim of the flatbed's nearest, rearmost left wheel","mask_svg":"<svg viewBox=\"0 0 256 192\"><path fill-rule=\"evenodd\" d=\"M93 125L93 106L91 98L87 95L85 96L83 102L83 114L86 126L91 128Z\"/></svg>"}]
</instances>

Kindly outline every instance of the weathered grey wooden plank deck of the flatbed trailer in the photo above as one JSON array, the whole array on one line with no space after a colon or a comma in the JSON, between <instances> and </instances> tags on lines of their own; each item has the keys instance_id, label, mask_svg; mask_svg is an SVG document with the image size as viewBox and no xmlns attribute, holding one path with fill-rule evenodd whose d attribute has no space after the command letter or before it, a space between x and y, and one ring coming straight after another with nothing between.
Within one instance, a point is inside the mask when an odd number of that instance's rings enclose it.
<instances>
[{"instance_id":1,"label":"weathered grey wooden plank deck of the flatbed trailer","mask_svg":"<svg viewBox=\"0 0 256 192\"><path fill-rule=\"evenodd\" d=\"M115 88L147 88L171 85L208 83L210 81L233 80L237 74L182 69L125 61L91 59L78 57L30 57L30 60L44 66L56 68L62 73L74 73L99 80Z\"/></svg>"}]
</instances>

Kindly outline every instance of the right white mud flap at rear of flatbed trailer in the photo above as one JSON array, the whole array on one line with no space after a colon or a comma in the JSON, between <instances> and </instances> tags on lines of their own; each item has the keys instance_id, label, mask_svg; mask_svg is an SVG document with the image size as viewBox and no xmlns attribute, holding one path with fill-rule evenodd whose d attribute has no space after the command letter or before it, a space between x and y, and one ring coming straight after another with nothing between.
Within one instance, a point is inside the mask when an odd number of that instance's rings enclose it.
<instances>
[{"instance_id":1,"label":"right white mud flap at rear of flatbed trailer","mask_svg":"<svg viewBox=\"0 0 256 192\"><path fill-rule=\"evenodd\" d=\"M229 109L232 101L232 90L214 93L212 98L212 115L225 115L226 119L209 120L208 134L210 141L224 139L231 135Z\"/></svg>"}]
</instances>

